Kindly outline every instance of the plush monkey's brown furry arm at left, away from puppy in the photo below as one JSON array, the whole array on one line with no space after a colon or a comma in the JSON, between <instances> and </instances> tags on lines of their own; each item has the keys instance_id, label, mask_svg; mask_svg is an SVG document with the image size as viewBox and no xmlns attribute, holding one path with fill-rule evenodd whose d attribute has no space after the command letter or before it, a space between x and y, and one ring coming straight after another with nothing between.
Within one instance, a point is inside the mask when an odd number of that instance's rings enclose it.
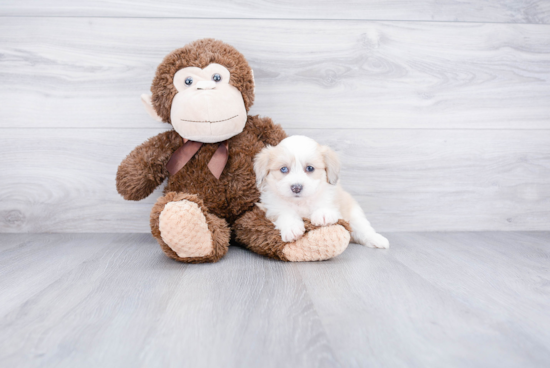
<instances>
[{"instance_id":1,"label":"plush monkey's brown furry arm at left, away from puppy","mask_svg":"<svg viewBox=\"0 0 550 368\"><path fill-rule=\"evenodd\" d=\"M168 176L166 163L180 145L181 137L170 130L137 146L118 167L116 187L120 195L139 201L153 193Z\"/></svg>"}]
</instances>

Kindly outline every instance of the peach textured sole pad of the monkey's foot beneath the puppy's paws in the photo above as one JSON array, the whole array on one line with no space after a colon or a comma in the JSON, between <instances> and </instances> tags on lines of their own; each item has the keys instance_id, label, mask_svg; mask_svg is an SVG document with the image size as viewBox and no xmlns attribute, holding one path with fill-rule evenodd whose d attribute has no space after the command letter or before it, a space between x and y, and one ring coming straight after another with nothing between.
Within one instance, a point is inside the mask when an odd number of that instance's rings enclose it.
<instances>
[{"instance_id":1,"label":"peach textured sole pad of the monkey's foot beneath the puppy's paws","mask_svg":"<svg viewBox=\"0 0 550 368\"><path fill-rule=\"evenodd\" d=\"M319 227L283 248L291 262L324 261L341 254L349 245L350 233L341 225Z\"/></svg>"}]
</instances>

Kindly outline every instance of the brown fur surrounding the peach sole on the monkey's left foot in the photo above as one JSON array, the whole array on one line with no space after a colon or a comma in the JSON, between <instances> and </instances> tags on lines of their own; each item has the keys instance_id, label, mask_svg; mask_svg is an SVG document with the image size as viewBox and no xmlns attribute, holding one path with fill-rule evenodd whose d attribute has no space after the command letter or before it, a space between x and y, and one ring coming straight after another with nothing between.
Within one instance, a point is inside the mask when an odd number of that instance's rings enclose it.
<instances>
[{"instance_id":1,"label":"brown fur surrounding the peach sole on the monkey's left foot","mask_svg":"<svg viewBox=\"0 0 550 368\"><path fill-rule=\"evenodd\" d=\"M208 225L208 230L212 233L212 253L204 257L194 257L194 258L182 258L179 257L176 252L174 252L160 236L159 229L159 217L160 213L170 202L177 202L181 200L188 200L195 202L199 205L204 217L206 218L206 223ZM227 248L229 247L229 237L231 235L231 230L227 226L227 222L224 219L214 216L209 213L206 207L204 206L203 201L199 199L196 195L185 194L185 193L176 193L170 192L165 196L159 198L157 203L153 206L151 211L151 233L157 239L160 247L166 253L166 255L177 261L186 262L186 263L205 263L205 262L217 262L222 258L225 253L227 253Z\"/></svg>"}]
</instances>

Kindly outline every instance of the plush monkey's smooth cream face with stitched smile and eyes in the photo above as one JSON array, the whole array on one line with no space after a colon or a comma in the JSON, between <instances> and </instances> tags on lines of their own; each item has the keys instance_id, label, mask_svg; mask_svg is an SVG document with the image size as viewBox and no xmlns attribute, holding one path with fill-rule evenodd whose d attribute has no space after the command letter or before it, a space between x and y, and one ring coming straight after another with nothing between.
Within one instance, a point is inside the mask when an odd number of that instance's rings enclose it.
<instances>
[{"instance_id":1,"label":"plush monkey's smooth cream face with stitched smile and eyes","mask_svg":"<svg viewBox=\"0 0 550 368\"><path fill-rule=\"evenodd\" d=\"M243 131L247 119L243 97L229 80L229 70L220 64L178 70L170 120L179 135L214 143Z\"/></svg>"}]
</instances>

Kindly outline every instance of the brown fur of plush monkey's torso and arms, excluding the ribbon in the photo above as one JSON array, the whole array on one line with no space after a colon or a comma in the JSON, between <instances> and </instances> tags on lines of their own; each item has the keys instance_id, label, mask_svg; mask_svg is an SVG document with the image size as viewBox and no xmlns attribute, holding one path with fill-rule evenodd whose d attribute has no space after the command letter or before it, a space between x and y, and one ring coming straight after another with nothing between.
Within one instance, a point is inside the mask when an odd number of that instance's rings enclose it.
<instances>
[{"instance_id":1,"label":"brown fur of plush monkey's torso and arms, excluding the ribbon","mask_svg":"<svg viewBox=\"0 0 550 368\"><path fill-rule=\"evenodd\" d=\"M168 177L165 193L196 194L211 213L231 224L260 199L254 156L266 144L277 145L285 137L281 126L271 119L249 116L243 132L229 139L229 159L218 180L208 169L208 162L219 143L203 144L176 175L169 175L166 163L183 144L181 136L170 130L150 138L126 157L118 169L117 189L125 199L140 200Z\"/></svg>"}]
</instances>

